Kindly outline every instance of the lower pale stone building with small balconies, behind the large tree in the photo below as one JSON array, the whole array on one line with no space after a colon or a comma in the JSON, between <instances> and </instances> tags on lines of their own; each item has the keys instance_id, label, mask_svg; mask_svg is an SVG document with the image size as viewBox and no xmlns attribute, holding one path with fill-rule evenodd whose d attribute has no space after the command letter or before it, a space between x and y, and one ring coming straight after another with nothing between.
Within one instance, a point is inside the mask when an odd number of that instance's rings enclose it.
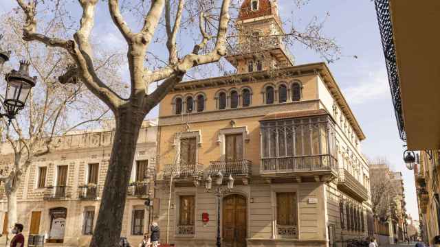
<instances>
[{"instance_id":1,"label":"lower pale stone building with small balconies, behind the large tree","mask_svg":"<svg viewBox=\"0 0 440 247\"><path fill-rule=\"evenodd\" d=\"M148 231L150 214L144 202L151 192L148 178L155 167L156 125L155 121L144 121L127 188L122 236L132 244L140 243ZM103 130L58 137L55 142L59 147L32 163L17 192L17 220L24 225L26 241L32 241L30 236L43 235L45 246L89 246L113 135L112 130ZM0 150L0 169L7 171L13 151L9 143L1 143ZM5 234L8 206L3 185L1 189L0 216Z\"/></svg>"}]
</instances>

